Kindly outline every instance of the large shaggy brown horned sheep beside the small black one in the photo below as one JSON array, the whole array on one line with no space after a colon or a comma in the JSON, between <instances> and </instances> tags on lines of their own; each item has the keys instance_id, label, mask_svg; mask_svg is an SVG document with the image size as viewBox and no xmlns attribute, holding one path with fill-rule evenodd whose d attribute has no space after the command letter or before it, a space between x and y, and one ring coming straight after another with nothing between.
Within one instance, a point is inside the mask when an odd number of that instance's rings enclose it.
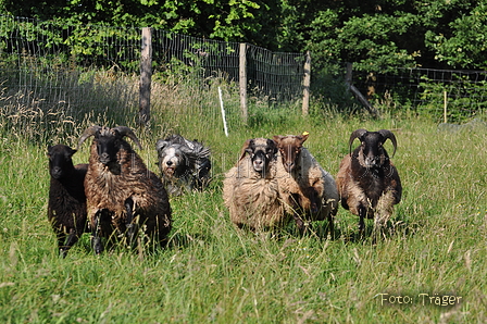
<instances>
[{"instance_id":1,"label":"large shaggy brown horned sheep beside the small black one","mask_svg":"<svg viewBox=\"0 0 487 324\"><path fill-rule=\"evenodd\" d=\"M126 126L90 126L80 136L78 148L90 136L93 141L85 192L95 252L103 251L101 237L110 238L112 234L126 234L132 246L139 226L146 237L165 244L172 226L167 192L124 139L127 136L141 149L134 132Z\"/></svg>"}]
</instances>

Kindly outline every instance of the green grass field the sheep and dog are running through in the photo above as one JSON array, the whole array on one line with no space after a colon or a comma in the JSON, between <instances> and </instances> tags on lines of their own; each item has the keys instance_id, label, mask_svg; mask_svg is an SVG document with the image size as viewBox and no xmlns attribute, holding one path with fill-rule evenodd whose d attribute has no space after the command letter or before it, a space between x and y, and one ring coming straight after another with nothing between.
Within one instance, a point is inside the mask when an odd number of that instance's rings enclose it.
<instances>
[{"instance_id":1,"label":"green grass field the sheep and dog are running through","mask_svg":"<svg viewBox=\"0 0 487 324\"><path fill-rule=\"evenodd\" d=\"M154 144L164 133L212 148L210 188L171 200L168 247L142 254L115 248L97 257L85 234L65 259L47 221L46 146L75 146L88 122L73 121L63 136L64 128L46 133L34 122L15 128L0 119L1 323L487 322L485 129L444 133L407 114L303 119L287 108L253 112L248 126L230 121L226 138L213 122L217 115L204 116L208 122L195 115L176 124L155 113L153 132L136 130L152 171ZM361 127L388 128L398 139L394 162L403 199L394 234L376 244L358 239L358 219L344 209L334 240L319 232L298 236L292 226L272 238L232 225L222 178L246 139L308 130L307 147L336 174L350 133ZM386 148L391 152L390 142ZM85 145L74 160L87 159Z\"/></svg>"}]
</instances>

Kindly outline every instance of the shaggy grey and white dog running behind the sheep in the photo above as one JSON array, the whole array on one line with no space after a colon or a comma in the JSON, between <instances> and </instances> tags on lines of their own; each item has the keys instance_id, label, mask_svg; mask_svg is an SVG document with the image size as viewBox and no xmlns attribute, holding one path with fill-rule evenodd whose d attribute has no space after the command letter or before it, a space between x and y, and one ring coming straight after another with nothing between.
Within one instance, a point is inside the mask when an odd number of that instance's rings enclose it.
<instances>
[{"instance_id":1,"label":"shaggy grey and white dog running behind the sheep","mask_svg":"<svg viewBox=\"0 0 487 324\"><path fill-rule=\"evenodd\" d=\"M210 149L180 135L159 139L155 144L163 184L172 196L184 189L202 190L210 182Z\"/></svg>"}]
</instances>

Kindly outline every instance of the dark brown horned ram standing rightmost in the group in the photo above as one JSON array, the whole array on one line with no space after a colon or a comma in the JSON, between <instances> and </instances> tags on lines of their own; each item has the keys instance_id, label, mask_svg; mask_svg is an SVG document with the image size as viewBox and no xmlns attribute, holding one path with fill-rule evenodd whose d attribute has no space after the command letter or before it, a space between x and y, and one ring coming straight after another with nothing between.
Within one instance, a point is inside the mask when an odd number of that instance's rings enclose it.
<instances>
[{"instance_id":1,"label":"dark brown horned ram standing rightmost in the group","mask_svg":"<svg viewBox=\"0 0 487 324\"><path fill-rule=\"evenodd\" d=\"M361 144L352 152L357 138ZM397 141L392 132L354 130L349 140L350 153L342 159L337 174L341 205L360 217L361 235L365 229L365 217L374 219L374 230L377 230L389 220L394 204L401 201L401 180L384 148L387 139L392 142L394 157Z\"/></svg>"}]
</instances>

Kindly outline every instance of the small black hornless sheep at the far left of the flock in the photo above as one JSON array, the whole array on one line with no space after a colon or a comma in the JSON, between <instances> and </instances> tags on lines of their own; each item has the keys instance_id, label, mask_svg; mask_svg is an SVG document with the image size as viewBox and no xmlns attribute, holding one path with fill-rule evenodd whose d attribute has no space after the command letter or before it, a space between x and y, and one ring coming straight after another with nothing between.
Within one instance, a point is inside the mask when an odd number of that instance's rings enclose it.
<instances>
[{"instance_id":1,"label":"small black hornless sheep at the far left of the flock","mask_svg":"<svg viewBox=\"0 0 487 324\"><path fill-rule=\"evenodd\" d=\"M87 229L85 175L88 164L73 165L76 150L65 145L48 146L48 220L58 238L63 258Z\"/></svg>"}]
</instances>

